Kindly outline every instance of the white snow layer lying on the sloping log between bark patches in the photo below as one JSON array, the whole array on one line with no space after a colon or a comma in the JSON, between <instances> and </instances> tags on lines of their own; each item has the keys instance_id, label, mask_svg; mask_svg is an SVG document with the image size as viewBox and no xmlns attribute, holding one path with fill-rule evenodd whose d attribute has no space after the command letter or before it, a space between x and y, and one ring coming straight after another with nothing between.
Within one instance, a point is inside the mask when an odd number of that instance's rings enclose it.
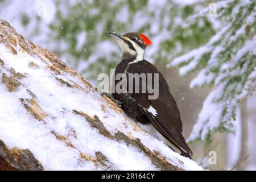
<instances>
[{"instance_id":1,"label":"white snow layer lying on the sloping log between bark patches","mask_svg":"<svg viewBox=\"0 0 256 182\"><path fill-rule=\"evenodd\" d=\"M18 51L18 48L16 48ZM96 114L106 129L113 135L118 130L134 138L140 138L150 150L158 150L170 161L179 167L188 170L201 170L195 162L180 156L163 142L135 130L125 115L110 109L101 95L86 86L75 76L57 75L72 84L79 84L84 90L72 89L58 82L47 64L39 57L32 57L18 51L13 55L9 49L0 44L0 57L5 63L2 73L10 75L10 68L25 74L19 80L22 84L16 92L9 92L6 85L0 82L0 139L10 148L29 149L43 167L47 170L98 170L90 161L80 158L80 154L94 156L101 151L115 168L122 170L157 170L150 159L137 148L127 146L124 142L115 142L98 133L84 118L73 113L73 109L88 115ZM30 61L39 65L39 69L28 67ZM29 89L36 96L36 101L47 113L44 122L38 121L28 114L19 98L30 98ZM101 106L105 107L102 111ZM67 138L75 147L69 147L65 142L58 140L57 135ZM75 136L72 134L75 131ZM184 164L180 164L182 160Z\"/></svg>"}]
</instances>

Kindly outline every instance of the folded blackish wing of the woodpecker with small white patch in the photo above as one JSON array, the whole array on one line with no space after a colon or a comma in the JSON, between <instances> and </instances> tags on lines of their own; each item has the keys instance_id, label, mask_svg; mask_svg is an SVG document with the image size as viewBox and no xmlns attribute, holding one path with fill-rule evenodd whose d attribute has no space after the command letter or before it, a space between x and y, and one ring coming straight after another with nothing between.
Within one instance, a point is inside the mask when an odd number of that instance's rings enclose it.
<instances>
[{"instance_id":1,"label":"folded blackish wing of the woodpecker with small white patch","mask_svg":"<svg viewBox=\"0 0 256 182\"><path fill-rule=\"evenodd\" d=\"M156 100L148 100L148 96L151 95L148 93L133 93L131 96L138 102L139 109L146 115L155 129L175 147L179 148L184 156L191 158L192 151L181 134L182 122L179 109L162 73L146 60L130 64L127 72L159 74L159 97Z\"/></svg>"}]
</instances>

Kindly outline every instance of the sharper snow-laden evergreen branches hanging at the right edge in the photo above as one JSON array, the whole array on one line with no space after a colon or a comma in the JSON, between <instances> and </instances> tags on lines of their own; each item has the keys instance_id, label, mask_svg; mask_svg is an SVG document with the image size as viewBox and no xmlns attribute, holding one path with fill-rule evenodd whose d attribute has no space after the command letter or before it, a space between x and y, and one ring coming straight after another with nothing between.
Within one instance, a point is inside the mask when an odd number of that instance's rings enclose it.
<instances>
[{"instance_id":1,"label":"sharper snow-laden evergreen branches hanging at the right edge","mask_svg":"<svg viewBox=\"0 0 256 182\"><path fill-rule=\"evenodd\" d=\"M220 30L204 46L171 63L179 65L182 75L200 70L191 87L215 86L205 100L190 141L201 139L209 144L216 131L236 131L240 103L256 87L255 5L253 0L219 2L216 20L221 24ZM196 19L205 17L196 16ZM211 107L216 110L209 113Z\"/></svg>"}]
</instances>

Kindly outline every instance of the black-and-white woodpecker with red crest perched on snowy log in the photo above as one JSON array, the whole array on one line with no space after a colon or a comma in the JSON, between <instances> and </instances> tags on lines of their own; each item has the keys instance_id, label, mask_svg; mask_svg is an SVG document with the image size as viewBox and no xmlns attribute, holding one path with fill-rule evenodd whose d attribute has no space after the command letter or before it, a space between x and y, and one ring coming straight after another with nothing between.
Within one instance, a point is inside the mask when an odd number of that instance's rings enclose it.
<instances>
[{"instance_id":1,"label":"black-and-white woodpecker with red crest perched on snowy log","mask_svg":"<svg viewBox=\"0 0 256 182\"><path fill-rule=\"evenodd\" d=\"M143 125L151 124L171 144L181 151L185 157L191 158L192 151L187 146L182 133L182 122L177 104L172 97L169 86L163 75L147 60L144 51L151 43L147 36L139 33L127 33L123 36L108 31L122 49L122 61L115 68L115 75L123 73L158 73L159 95L155 100L149 100L150 93L113 93L115 100L121 102L122 109L127 115L136 118ZM128 76L127 76L128 77ZM127 80L127 85L129 85ZM143 81L143 80L142 80ZM117 81L115 81L115 85ZM137 85L140 87L142 82ZM148 84L148 83L147 83ZM154 84L154 83L153 83Z\"/></svg>"}]
</instances>

